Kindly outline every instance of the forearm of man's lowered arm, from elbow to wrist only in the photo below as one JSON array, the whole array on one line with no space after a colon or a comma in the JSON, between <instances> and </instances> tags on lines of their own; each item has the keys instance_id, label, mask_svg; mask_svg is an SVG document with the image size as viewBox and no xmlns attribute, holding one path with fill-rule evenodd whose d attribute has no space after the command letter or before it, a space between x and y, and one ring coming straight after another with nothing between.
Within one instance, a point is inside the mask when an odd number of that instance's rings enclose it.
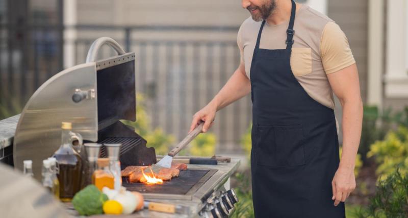
<instances>
[{"instance_id":1,"label":"forearm of man's lowered arm, from elbow to wrist only","mask_svg":"<svg viewBox=\"0 0 408 218\"><path fill-rule=\"evenodd\" d=\"M363 103L361 99L344 101L343 106L343 151L339 168L353 170L355 157L359 150L363 122Z\"/></svg>"}]
</instances>

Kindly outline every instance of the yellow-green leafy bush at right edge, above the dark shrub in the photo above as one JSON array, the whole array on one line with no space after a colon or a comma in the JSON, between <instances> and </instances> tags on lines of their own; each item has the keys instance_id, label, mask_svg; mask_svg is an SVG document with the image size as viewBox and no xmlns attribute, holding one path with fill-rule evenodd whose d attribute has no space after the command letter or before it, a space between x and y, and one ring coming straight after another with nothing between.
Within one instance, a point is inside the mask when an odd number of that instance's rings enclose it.
<instances>
[{"instance_id":1,"label":"yellow-green leafy bush at right edge, above the dark shrub","mask_svg":"<svg viewBox=\"0 0 408 218\"><path fill-rule=\"evenodd\" d=\"M386 179L395 172L397 166L401 173L408 172L408 128L400 126L390 131L382 141L376 141L370 147L367 157L374 157L378 165L376 174Z\"/></svg>"}]
</instances>

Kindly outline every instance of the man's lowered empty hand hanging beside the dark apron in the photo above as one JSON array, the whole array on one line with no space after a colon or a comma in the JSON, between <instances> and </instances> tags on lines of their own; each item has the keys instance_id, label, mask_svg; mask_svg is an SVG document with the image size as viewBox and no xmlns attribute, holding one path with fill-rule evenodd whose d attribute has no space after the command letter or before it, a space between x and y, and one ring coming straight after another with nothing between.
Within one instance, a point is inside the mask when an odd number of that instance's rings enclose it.
<instances>
[{"instance_id":1,"label":"man's lowered empty hand hanging beside the dark apron","mask_svg":"<svg viewBox=\"0 0 408 218\"><path fill-rule=\"evenodd\" d=\"M355 189L354 170L339 167L333 181L331 181L331 187L333 189L331 200L335 200L334 205L337 206L340 202L345 202L350 193Z\"/></svg>"}]
</instances>

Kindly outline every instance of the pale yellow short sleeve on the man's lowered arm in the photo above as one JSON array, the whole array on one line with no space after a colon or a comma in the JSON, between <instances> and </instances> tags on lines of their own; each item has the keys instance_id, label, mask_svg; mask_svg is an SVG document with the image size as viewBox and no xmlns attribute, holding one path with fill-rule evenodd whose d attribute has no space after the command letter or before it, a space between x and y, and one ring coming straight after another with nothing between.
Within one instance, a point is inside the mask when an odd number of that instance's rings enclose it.
<instances>
[{"instance_id":1,"label":"pale yellow short sleeve on the man's lowered arm","mask_svg":"<svg viewBox=\"0 0 408 218\"><path fill-rule=\"evenodd\" d=\"M327 22L323 29L320 57L326 74L337 72L355 63L347 37L335 22Z\"/></svg>"}]
</instances>

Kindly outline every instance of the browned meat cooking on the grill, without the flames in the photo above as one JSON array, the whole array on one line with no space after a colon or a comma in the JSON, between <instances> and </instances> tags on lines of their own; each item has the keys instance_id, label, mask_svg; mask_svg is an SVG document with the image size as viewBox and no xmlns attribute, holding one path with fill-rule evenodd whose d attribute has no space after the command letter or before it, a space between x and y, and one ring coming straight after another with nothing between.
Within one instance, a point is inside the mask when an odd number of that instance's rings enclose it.
<instances>
[{"instance_id":1,"label":"browned meat cooking on the grill, without the flames","mask_svg":"<svg viewBox=\"0 0 408 218\"><path fill-rule=\"evenodd\" d=\"M161 168L156 176L158 179L164 181L171 180L173 177L178 177L180 171L185 171L187 169L187 164L185 163L172 163L170 168ZM122 177L127 177L130 183L135 182L146 182L143 177L142 170L144 174L152 177L151 172L147 169L147 166L127 166L121 172Z\"/></svg>"}]
</instances>

